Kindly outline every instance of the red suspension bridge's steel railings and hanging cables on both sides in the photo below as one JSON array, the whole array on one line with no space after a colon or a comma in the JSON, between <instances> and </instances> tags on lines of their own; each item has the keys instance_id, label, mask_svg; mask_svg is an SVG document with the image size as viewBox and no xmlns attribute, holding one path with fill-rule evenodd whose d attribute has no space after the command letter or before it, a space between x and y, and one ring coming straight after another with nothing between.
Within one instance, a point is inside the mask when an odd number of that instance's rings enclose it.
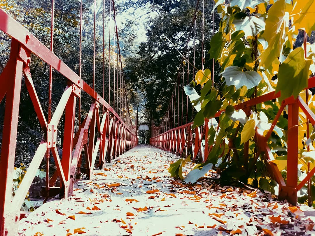
<instances>
[{"instance_id":1,"label":"red suspension bridge's steel railings and hanging cables on both sides","mask_svg":"<svg viewBox=\"0 0 315 236\"><path fill-rule=\"evenodd\" d=\"M95 3L95 2L94 2ZM199 3L199 1L198 1ZM197 3L197 6L198 6ZM96 3L95 3L96 4ZM47 168L46 194L47 197L52 196L56 192L68 198L73 194L73 186L76 180L77 173L84 171L88 178L93 177L95 168L105 168L106 162L111 162L119 155L134 148L138 144L137 128L138 118L136 117L135 124L129 114L129 104L125 93L125 82L123 76L123 64L120 54L120 45L118 38L117 24L115 24L114 33L116 34L116 43L118 47L117 59L117 74L112 76L114 87L108 84L109 96L104 98L104 76L105 61L103 50L103 94L102 96L95 92L95 8L94 8L94 69L93 69L93 88L90 87L81 78L81 38L82 38L82 1L81 1L81 27L80 27L80 58L79 58L79 74L77 75L63 61L61 61L53 53L53 29L54 29L54 0L52 1L52 21L51 21L51 45L50 49L45 47L36 37L27 31L16 20L10 17L7 13L0 9L0 29L12 39L10 59L0 75L0 100L5 98L5 113L3 124L3 139L0 159L0 234L15 235L20 217L24 213L20 213L26 193L31 186L31 183L36 175L36 171L40 166L44 156L49 163L50 153L52 154L56 172L49 180L49 171ZM94 5L95 7L95 5ZM104 5L105 11L105 5ZM113 12L114 21L116 23L116 12L114 0L111 2L111 11ZM197 7L196 7L197 11ZM195 12L196 16L196 12ZM196 24L194 16L190 32L193 25ZM188 49L191 38L186 43L185 55ZM103 48L104 47L104 14L103 14ZM115 44L115 37L114 37ZM189 50L189 49L188 49ZM109 48L110 52L110 48ZM48 119L46 119L42 105L39 101L35 86L30 72L31 54L42 59L43 62L50 66L49 73L49 106ZM202 52L202 55L204 53ZM189 55L189 53L188 53ZM115 57L115 53L113 54ZM109 57L110 60L110 57ZM195 60L195 59L194 59ZM115 58L114 58L115 62ZM119 62L119 64L118 64ZM106 62L107 64L107 62ZM114 63L115 64L115 63ZM214 65L214 63L213 63ZM114 65L115 66L115 65ZM53 70L60 72L67 81L67 86L60 98L60 101L54 110L51 109L52 100L52 76ZM119 73L118 73L119 70ZM185 107L184 85L188 84L189 77L184 78L185 70L189 70L189 65L181 64L178 71L174 92L171 96L168 109L159 126L151 125L150 144L154 147L167 150L177 155L187 156L192 154L193 159L197 155L201 156L201 161L207 160L208 154L212 146L208 143L208 131L211 126L218 126L215 117L224 112L220 110L210 119L206 119L203 126L192 129L192 123L183 120L182 117L188 116L188 106ZM194 71L195 72L195 71ZM110 61L108 62L108 73L111 76ZM189 73L187 73L189 74ZM213 73L214 74L214 73ZM22 80L24 75L24 80ZM182 77L181 77L182 76ZM16 149L16 137L18 127L18 116L21 96L21 84L25 81L25 85L31 98L34 110L37 114L38 121L44 133L43 140L39 143L37 151L32 158L23 182L14 196L12 196L12 179L14 171L14 157ZM116 86L116 88L115 88ZM119 87L115 97L115 92L110 94ZM315 87L315 77L308 80L308 87ZM58 89L58 88L54 88ZM89 98L92 98L92 103L88 114L81 121L81 98L82 93L86 93ZM185 95L186 96L186 95ZM266 101L271 101L280 96L280 93L268 93L249 101L238 104L235 109L242 109L247 115L251 113L251 107L261 104ZM111 100L112 99L112 100ZM112 104L112 106L110 105ZM188 104L188 97L186 98ZM284 112L284 107L288 106L288 159L287 159L287 179L284 181L278 166L273 162L274 157L272 150L268 146L268 140L273 132L274 126L277 124L280 115ZM76 117L76 108L78 107L78 116ZM177 112L176 112L177 111ZM65 130L63 135L63 153L60 159L57 151L57 126L60 124L60 118L65 112ZM315 169L310 170L304 180L298 184L298 132L299 132L299 112L303 112L309 122L315 125L315 115L309 108L306 101L301 97L294 99L293 97L285 99L278 114L272 121L272 126L266 135L255 133L255 142L257 153L255 160L260 155L263 156L266 167L270 176L279 184L279 199L287 199L293 205L297 204L297 191L301 189L305 183L314 175ZM177 113L177 114L176 114ZM181 118L180 118L181 117ZM177 119L176 119L177 118ZM75 120L79 121L79 129L74 134ZM229 153L234 148L233 140L229 140ZM73 152L74 149L74 152ZM84 150L84 155L82 151ZM99 153L99 159L97 160ZM244 158L248 159L249 147L244 146ZM81 159L85 158L85 168L81 166ZM60 178L60 185L55 186L57 178Z\"/></svg>"}]
</instances>

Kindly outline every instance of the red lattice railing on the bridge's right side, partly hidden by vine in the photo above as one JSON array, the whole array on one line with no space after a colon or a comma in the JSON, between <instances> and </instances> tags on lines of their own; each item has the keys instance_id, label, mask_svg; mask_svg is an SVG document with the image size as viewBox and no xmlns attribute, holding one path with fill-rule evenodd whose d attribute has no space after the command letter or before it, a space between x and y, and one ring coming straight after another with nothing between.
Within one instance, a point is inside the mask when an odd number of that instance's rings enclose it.
<instances>
[{"instance_id":1,"label":"red lattice railing on the bridge's right side, partly hidden by vine","mask_svg":"<svg viewBox=\"0 0 315 236\"><path fill-rule=\"evenodd\" d=\"M309 78L308 87L315 87L315 76ZM235 106L235 110L243 109L246 114L251 111L251 108L257 104L264 103L280 97L280 93L267 93L257 98L253 98L249 101L243 102ZM283 114L285 106L288 106L288 130L287 130L287 146L288 146L288 155L287 155L287 179L286 182L281 175L281 172L278 169L277 164L273 162L275 160L274 155L270 147L268 146L268 140L272 134L274 126L277 125L280 115ZM221 110L216 113L214 117L219 117L220 114L224 112ZM263 154L263 158L266 163L266 167L269 170L270 176L277 181L279 184L279 199L287 199L293 205L297 204L297 191L300 190L314 175L315 168L310 170L306 177L298 183L298 154L299 149L299 113L304 113L309 122L314 126L315 125L315 114L312 112L307 103L298 96L297 99L293 97L285 99L281 107L272 121L272 126L265 136L255 132L255 142L257 147L257 152L255 154L255 161L258 157ZM170 121L165 121L171 123ZM150 138L150 144L160 149L168 150L177 155L189 155L192 154L193 160L196 159L197 155L201 157L201 161L205 162L207 160L208 154L212 146L208 145L208 130L216 123L215 119L206 119L203 126L192 129L193 123L188 123L179 127L165 131L168 125L161 125L160 127L152 125L152 138ZM229 140L229 152L235 146L231 140ZM247 156L249 153L249 147L244 145L243 150L244 156Z\"/></svg>"}]
</instances>

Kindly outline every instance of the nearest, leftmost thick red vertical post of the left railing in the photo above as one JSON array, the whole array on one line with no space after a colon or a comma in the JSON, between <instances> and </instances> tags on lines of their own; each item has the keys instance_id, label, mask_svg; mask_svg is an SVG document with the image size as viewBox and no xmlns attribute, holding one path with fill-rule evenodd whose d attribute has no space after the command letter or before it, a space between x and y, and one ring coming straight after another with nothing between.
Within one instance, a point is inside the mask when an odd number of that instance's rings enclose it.
<instances>
[{"instance_id":1,"label":"nearest, leftmost thick red vertical post of the left railing","mask_svg":"<svg viewBox=\"0 0 315 236\"><path fill-rule=\"evenodd\" d=\"M0 234L16 235L20 206L12 206L12 180L16 135L19 119L20 92L23 62L18 58L19 43L12 39L10 60L7 64L11 73L3 78L8 80L5 101L3 140L0 159ZM16 209L14 209L16 207Z\"/></svg>"}]
</instances>

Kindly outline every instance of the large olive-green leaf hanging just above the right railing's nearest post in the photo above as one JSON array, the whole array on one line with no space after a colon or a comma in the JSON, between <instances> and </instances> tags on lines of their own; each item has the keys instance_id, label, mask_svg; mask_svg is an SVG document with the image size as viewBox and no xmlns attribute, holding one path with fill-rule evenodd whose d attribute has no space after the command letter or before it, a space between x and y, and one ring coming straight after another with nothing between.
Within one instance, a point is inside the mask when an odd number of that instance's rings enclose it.
<instances>
[{"instance_id":1,"label":"large olive-green leaf hanging just above the right railing's nearest post","mask_svg":"<svg viewBox=\"0 0 315 236\"><path fill-rule=\"evenodd\" d=\"M281 91L279 101L292 95L297 98L307 87L308 72L312 60L304 58L303 48L294 49L279 67L276 93Z\"/></svg>"}]
</instances>

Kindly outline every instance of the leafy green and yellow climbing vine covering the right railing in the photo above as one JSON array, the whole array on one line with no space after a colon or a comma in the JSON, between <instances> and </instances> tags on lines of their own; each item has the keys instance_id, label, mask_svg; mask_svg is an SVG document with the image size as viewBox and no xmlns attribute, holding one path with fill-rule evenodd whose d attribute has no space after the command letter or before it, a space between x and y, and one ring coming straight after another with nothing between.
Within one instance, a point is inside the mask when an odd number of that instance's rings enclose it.
<instances>
[{"instance_id":1,"label":"leafy green and yellow climbing vine covering the right railing","mask_svg":"<svg viewBox=\"0 0 315 236\"><path fill-rule=\"evenodd\" d=\"M255 133L265 135L279 109L283 109L267 145L274 156L272 162L278 165L285 179L288 110L281 107L281 102L291 96L301 96L305 100L308 93L309 107L315 112L315 96L309 90L305 91L308 78L315 73L315 45L304 37L305 52L295 43L299 33L310 36L315 30L312 19L315 1L231 0L227 4L218 0L215 7L221 22L219 31L210 42L208 57L220 64L221 83L211 80L209 69L199 70L195 81L186 86L185 92L187 95L192 91L197 93L194 91L195 84L202 86L199 98L192 101L198 111L193 128L202 126L206 118L214 117L218 111L223 112L217 119L219 127L212 126L206 134L209 146L212 146L207 161L197 164L184 181L196 182L209 169L216 167L221 172L222 181L240 180L274 193L276 182L268 177L262 155L255 155ZM281 91L281 96L245 111L234 108L273 91ZM315 166L314 130L305 115L300 113L298 145L301 178L306 175L308 163L311 169ZM309 139L306 140L306 137ZM244 154L245 145L249 150L248 158ZM171 175L178 176L181 167L176 169L175 166L181 166L180 161L172 165ZM315 183L314 177L312 183Z\"/></svg>"}]
</instances>

